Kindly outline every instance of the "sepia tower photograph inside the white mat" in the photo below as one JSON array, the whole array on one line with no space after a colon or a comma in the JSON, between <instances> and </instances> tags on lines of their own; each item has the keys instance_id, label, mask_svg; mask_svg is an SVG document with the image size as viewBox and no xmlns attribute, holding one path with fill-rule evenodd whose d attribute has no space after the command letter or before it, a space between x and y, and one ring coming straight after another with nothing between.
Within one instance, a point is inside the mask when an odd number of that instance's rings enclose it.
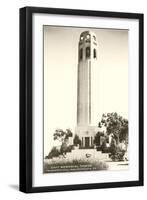
<instances>
[{"instance_id":1,"label":"sepia tower photograph inside the white mat","mask_svg":"<svg viewBox=\"0 0 147 200\"><path fill-rule=\"evenodd\" d=\"M43 173L128 170L128 30L43 26Z\"/></svg>"}]
</instances>

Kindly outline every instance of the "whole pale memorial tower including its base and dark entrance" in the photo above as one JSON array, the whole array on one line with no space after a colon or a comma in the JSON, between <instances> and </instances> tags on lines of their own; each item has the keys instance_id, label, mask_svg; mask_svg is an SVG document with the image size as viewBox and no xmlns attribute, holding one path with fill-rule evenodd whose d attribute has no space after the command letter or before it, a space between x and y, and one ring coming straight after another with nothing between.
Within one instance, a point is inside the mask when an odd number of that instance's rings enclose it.
<instances>
[{"instance_id":1,"label":"whole pale memorial tower including its base and dark entrance","mask_svg":"<svg viewBox=\"0 0 147 200\"><path fill-rule=\"evenodd\" d=\"M91 31L81 33L78 45L77 130L82 147L93 146L97 127L93 126L97 39Z\"/></svg>"}]
</instances>

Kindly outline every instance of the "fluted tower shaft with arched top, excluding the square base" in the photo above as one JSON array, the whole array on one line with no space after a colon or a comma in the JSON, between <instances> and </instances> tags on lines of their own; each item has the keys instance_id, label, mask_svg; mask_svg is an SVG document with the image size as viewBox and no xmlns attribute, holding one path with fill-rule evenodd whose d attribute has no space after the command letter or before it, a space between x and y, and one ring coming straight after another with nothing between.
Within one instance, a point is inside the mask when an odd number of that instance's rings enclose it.
<instances>
[{"instance_id":1,"label":"fluted tower shaft with arched top, excluding the square base","mask_svg":"<svg viewBox=\"0 0 147 200\"><path fill-rule=\"evenodd\" d=\"M92 79L97 60L97 41L93 32L81 33L78 47L77 126L89 126L92 121Z\"/></svg>"}]
</instances>

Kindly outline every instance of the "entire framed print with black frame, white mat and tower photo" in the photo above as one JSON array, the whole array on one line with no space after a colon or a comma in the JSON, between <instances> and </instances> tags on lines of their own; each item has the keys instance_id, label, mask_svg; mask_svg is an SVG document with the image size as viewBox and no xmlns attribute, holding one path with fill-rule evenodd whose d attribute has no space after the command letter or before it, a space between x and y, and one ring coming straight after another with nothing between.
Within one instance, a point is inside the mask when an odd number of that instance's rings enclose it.
<instances>
[{"instance_id":1,"label":"entire framed print with black frame, white mat and tower photo","mask_svg":"<svg viewBox=\"0 0 147 200\"><path fill-rule=\"evenodd\" d=\"M143 14L20 9L20 191L143 185Z\"/></svg>"}]
</instances>

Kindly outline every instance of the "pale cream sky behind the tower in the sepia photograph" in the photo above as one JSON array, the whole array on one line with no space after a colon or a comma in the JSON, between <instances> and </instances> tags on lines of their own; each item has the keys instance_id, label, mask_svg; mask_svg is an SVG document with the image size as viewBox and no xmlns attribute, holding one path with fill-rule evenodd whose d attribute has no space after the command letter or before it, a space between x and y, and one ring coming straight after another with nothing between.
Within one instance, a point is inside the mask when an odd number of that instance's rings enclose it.
<instances>
[{"instance_id":1,"label":"pale cream sky behind the tower in the sepia photograph","mask_svg":"<svg viewBox=\"0 0 147 200\"><path fill-rule=\"evenodd\" d=\"M44 26L44 154L55 129L77 121L78 42L83 31L97 36L95 125L103 113L128 119L128 30Z\"/></svg>"}]
</instances>

